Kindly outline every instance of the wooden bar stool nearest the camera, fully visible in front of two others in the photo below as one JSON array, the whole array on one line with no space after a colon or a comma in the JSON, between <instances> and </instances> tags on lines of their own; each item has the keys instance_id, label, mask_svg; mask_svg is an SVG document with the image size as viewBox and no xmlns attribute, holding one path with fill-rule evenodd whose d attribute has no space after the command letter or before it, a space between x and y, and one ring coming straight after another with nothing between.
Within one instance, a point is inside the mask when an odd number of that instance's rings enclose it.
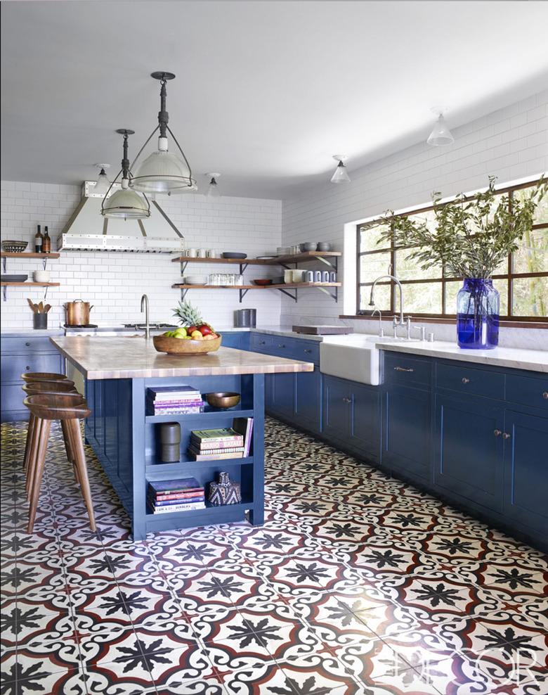
<instances>
[{"instance_id":1,"label":"wooden bar stool nearest the camera, fully visible in front of two others","mask_svg":"<svg viewBox=\"0 0 548 695\"><path fill-rule=\"evenodd\" d=\"M60 420L67 423L70 448L78 471L81 494L88 511L89 525L91 530L95 531L93 502L91 500L86 457L79 426L79 419L86 418L91 413L85 398L75 393L39 393L27 396L24 403L36 419L34 425L36 435L33 438L30 451L30 471L33 472L33 475L30 485L30 510L27 532L32 533L34 528L52 420Z\"/></svg>"}]
</instances>

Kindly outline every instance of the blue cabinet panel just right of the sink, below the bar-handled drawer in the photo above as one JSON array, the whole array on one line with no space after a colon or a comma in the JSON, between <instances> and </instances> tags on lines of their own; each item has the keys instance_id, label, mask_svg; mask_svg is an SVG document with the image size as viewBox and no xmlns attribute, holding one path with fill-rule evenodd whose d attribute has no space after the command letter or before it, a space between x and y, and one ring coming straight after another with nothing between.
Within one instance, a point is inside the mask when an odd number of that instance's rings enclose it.
<instances>
[{"instance_id":1,"label":"blue cabinet panel just right of the sink, below the bar-handled drawer","mask_svg":"<svg viewBox=\"0 0 548 695\"><path fill-rule=\"evenodd\" d=\"M384 398L383 465L430 478L430 393L391 385Z\"/></svg>"}]
</instances>

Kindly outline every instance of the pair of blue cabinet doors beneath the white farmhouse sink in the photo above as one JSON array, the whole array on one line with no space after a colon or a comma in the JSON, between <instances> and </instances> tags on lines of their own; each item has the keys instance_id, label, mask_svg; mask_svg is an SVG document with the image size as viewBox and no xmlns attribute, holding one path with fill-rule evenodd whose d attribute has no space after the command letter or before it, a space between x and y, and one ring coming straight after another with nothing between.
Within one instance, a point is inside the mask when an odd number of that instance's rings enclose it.
<instances>
[{"instance_id":1,"label":"pair of blue cabinet doors beneath the white farmhouse sink","mask_svg":"<svg viewBox=\"0 0 548 695\"><path fill-rule=\"evenodd\" d=\"M368 461L379 462L380 393L376 386L324 377L322 433Z\"/></svg>"}]
</instances>

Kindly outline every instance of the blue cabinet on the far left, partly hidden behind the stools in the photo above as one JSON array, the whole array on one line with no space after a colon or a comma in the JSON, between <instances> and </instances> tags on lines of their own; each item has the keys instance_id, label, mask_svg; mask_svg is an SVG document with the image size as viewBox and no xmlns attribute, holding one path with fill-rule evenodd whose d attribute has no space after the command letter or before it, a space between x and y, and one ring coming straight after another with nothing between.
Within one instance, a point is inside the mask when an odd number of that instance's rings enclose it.
<instances>
[{"instance_id":1,"label":"blue cabinet on the far left, partly hidden behind the stools","mask_svg":"<svg viewBox=\"0 0 548 695\"><path fill-rule=\"evenodd\" d=\"M48 336L1 336L0 419L2 422L28 420L23 405L21 374L47 371L64 374L65 360Z\"/></svg>"}]
</instances>

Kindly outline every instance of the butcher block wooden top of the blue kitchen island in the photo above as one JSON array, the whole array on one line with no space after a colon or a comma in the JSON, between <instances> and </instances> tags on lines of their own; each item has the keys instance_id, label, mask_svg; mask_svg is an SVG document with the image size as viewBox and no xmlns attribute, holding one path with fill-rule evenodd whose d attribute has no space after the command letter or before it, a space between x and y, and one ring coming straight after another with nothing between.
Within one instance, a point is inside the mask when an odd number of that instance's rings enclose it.
<instances>
[{"instance_id":1,"label":"butcher block wooden top of the blue kitchen island","mask_svg":"<svg viewBox=\"0 0 548 695\"><path fill-rule=\"evenodd\" d=\"M50 338L86 379L133 379L313 371L312 362L221 347L206 355L166 355L145 338Z\"/></svg>"}]
</instances>

